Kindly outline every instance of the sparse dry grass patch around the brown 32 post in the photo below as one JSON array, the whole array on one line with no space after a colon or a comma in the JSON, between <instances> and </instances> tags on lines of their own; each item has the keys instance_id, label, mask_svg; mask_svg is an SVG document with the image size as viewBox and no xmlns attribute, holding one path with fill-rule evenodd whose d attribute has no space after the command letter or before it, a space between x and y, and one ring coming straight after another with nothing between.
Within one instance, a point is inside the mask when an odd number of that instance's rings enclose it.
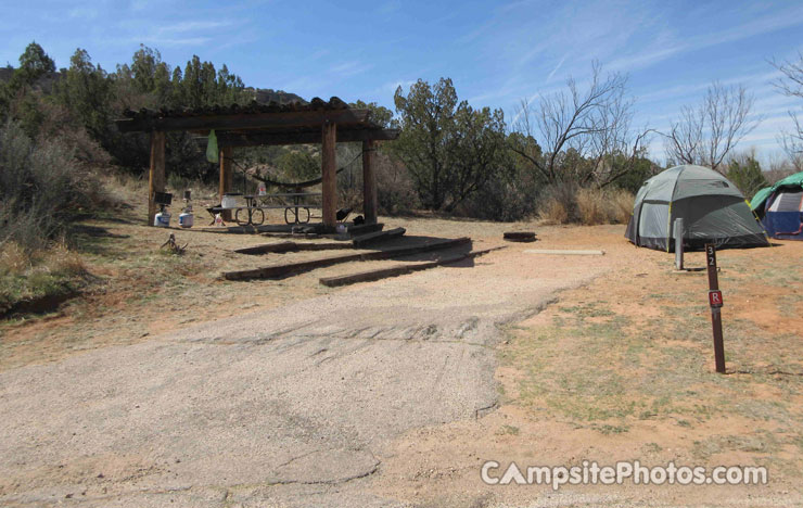
<instances>
[{"instance_id":1,"label":"sparse dry grass patch around the brown 32 post","mask_svg":"<svg viewBox=\"0 0 803 508\"><path fill-rule=\"evenodd\" d=\"M789 309L803 308L803 296L788 290L803 280L796 246L723 254L729 376L713 371L704 278L672 275L670 257L639 253L511 330L502 361L515 376L505 393L541 427L555 419L597 432L596 449L649 441L702 465L765 465L800 484L803 321Z\"/></svg>"}]
</instances>

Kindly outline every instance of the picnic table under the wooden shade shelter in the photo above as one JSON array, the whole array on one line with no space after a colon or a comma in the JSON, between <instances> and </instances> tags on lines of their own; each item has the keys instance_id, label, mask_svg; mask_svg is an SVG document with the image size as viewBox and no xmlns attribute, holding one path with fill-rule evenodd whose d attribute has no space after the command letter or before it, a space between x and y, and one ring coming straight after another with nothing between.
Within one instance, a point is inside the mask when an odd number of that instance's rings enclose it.
<instances>
[{"instance_id":1,"label":"picnic table under the wooden shade shelter","mask_svg":"<svg viewBox=\"0 0 803 508\"><path fill-rule=\"evenodd\" d=\"M234 211L234 220L240 226L260 226L265 223L266 209L284 208L284 221L286 224L307 224L313 218L310 208L321 208L321 205L304 202L305 199L321 196L320 192L280 192L276 194L243 196L245 206L234 206L224 208L222 206L212 206L206 211L212 215L212 224L215 224L215 215L225 211ZM280 203L271 203L271 200L278 199ZM286 201L292 201L288 203Z\"/></svg>"}]
</instances>

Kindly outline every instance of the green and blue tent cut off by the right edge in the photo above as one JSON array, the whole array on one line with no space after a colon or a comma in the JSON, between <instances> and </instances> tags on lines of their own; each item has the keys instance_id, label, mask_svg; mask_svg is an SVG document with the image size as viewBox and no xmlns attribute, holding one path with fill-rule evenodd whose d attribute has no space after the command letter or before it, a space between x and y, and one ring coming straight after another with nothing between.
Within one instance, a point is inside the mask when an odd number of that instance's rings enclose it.
<instances>
[{"instance_id":1,"label":"green and blue tent cut off by the right edge","mask_svg":"<svg viewBox=\"0 0 803 508\"><path fill-rule=\"evenodd\" d=\"M750 207L770 237L803 240L803 172L756 192Z\"/></svg>"}]
</instances>

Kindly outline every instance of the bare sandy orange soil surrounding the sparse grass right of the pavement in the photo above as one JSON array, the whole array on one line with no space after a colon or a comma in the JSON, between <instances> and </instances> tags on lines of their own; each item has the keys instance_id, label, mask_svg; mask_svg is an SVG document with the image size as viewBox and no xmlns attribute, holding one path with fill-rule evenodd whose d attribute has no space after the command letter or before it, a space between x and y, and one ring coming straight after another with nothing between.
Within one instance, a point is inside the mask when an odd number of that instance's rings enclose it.
<instances>
[{"instance_id":1,"label":"bare sandy orange soil surrounding the sparse grass right of the pavement","mask_svg":"<svg viewBox=\"0 0 803 508\"><path fill-rule=\"evenodd\" d=\"M723 313L728 353L727 380L721 382L722 377L717 378L719 374L713 372L704 271L675 272L672 269L674 256L622 247L615 238L617 231L612 229L573 228L566 232L573 238L572 243L583 246L589 244L589 234L596 237L597 245L608 251L608 259L615 259L614 269L587 285L561 292L559 301L544 312L515 326L508 326L508 340L497 348L499 356L526 347L540 331L550 333L556 321L563 322L568 314L584 305L604 309L604 313L599 313L602 317L591 312L590 317L583 321L585 327L626 316L632 320L624 327L629 329L629 333L650 333L646 331L650 320L672 322L678 319L679 313L688 312L684 304L688 304L691 295L700 303L693 313L704 325L700 343L694 343L693 347L699 352L694 359L697 369L705 382L699 386L678 384L678 392L691 388L709 391L694 397L700 406L712 404L721 396L731 398L737 406L785 404L785 407L779 414L721 407L714 409L711 417L687 410L659 415L658 418L648 415L599 420L599 423L613 423L608 426L612 429L624 428L620 433L619 430L606 430L606 426L591 421L594 418L574 418L571 414L555 410L544 397L527 399L522 390L532 382L532 377L522 367L528 364L515 359L502 361L496 370L496 380L504 393L498 410L473 421L417 429L397 440L392 458L383 463L383 474L378 477L374 488L396 498L416 499L421 506L780 507L803 504L800 487L803 465L798 432L803 409L803 358L799 354L803 346L803 299L800 297L803 270L798 259L803 255L803 245L800 242L780 242L768 250L719 253L721 287L726 294ZM558 263L568 261L562 258ZM702 253L687 255L687 266L704 266ZM693 335L701 331L689 330L689 333ZM749 340L742 342L743 335ZM688 338L665 340L660 334L653 336L661 341L660 347L689 344ZM609 367L602 358L595 364L583 364L576 358L550 352L563 347L571 347L570 342L556 336L536 354L548 357L550 363L564 363L569 372ZM779 357L786 361L781 364ZM621 366L614 368L628 377L642 377L647 370L645 367L632 370L621 369ZM660 372L646 382L671 384L673 374L671 371ZM572 396L571 391L568 395ZM785 440L790 433L791 439ZM706 446L711 449L702 453ZM564 486L555 492L543 485L485 485L480 481L480 469L486 460L496 460L502 467L515 461L522 468L570 467L578 466L583 460L600 465L615 465L619 460L640 460L648 465L674 461L708 468L752 465L766 466L770 481L767 485L750 486L639 486L626 483L613 487Z\"/></svg>"}]
</instances>

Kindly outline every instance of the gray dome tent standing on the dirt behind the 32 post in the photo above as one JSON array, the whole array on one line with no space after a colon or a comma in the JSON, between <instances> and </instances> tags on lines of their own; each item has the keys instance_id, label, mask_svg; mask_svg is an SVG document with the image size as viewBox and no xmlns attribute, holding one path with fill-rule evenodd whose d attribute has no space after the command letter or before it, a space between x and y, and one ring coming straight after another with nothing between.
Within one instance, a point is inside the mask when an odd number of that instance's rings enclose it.
<instances>
[{"instance_id":1,"label":"gray dome tent standing on the dirt behind the 32 post","mask_svg":"<svg viewBox=\"0 0 803 508\"><path fill-rule=\"evenodd\" d=\"M636 194L625 237L638 246L674 251L676 218L684 219L684 245L690 249L769 245L739 189L708 167L675 166L647 180Z\"/></svg>"}]
</instances>

